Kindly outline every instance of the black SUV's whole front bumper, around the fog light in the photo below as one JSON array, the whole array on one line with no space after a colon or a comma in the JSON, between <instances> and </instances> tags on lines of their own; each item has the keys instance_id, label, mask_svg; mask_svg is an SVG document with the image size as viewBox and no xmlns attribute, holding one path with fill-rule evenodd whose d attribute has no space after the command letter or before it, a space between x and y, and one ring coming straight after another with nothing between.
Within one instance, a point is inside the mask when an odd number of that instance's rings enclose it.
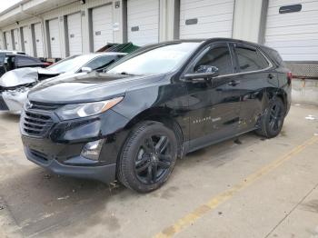
<instances>
[{"instance_id":1,"label":"black SUV's whole front bumper, around the fog light","mask_svg":"<svg viewBox=\"0 0 318 238\"><path fill-rule=\"evenodd\" d=\"M37 116L31 121L30 116L26 115L30 112ZM116 161L124 142L124 133L118 131L127 124L126 118L109 110L93 117L60 121L54 112L37 112L23 112L20 121L21 138L28 160L55 174L114 182ZM48 119L48 126L40 134L30 134L32 127L25 127L25 124L35 124L37 118L44 122L46 119L43 118L48 117L51 118ZM99 139L104 139L99 159L84 158L81 155L84 145Z\"/></svg>"}]
</instances>

